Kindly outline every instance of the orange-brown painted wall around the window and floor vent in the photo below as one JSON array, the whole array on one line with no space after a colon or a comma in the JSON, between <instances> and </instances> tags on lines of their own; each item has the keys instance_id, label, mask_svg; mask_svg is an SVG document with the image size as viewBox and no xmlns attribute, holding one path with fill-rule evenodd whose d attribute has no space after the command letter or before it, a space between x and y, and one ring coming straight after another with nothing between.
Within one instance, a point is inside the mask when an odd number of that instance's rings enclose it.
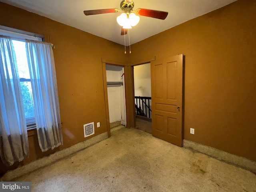
<instances>
[{"instance_id":1,"label":"orange-brown painted wall around the window and floor vent","mask_svg":"<svg viewBox=\"0 0 256 192\"><path fill-rule=\"evenodd\" d=\"M83 125L86 123L100 122L95 136L106 132L102 58L125 62L123 46L2 2L0 25L50 36L50 42L55 46L64 143L55 150L42 153L37 136L29 131L29 158L10 168L0 161L0 173L90 138L84 138Z\"/></svg>"}]
</instances>

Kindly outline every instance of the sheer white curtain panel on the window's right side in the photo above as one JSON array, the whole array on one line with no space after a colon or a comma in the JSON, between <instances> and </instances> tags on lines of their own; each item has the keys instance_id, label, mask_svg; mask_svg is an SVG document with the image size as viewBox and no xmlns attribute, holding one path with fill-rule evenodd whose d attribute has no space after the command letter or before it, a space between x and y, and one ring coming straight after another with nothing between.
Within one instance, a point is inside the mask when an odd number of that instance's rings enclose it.
<instances>
[{"instance_id":1,"label":"sheer white curtain panel on the window's right side","mask_svg":"<svg viewBox=\"0 0 256 192\"><path fill-rule=\"evenodd\" d=\"M63 144L52 46L26 42L38 142L43 152Z\"/></svg>"}]
</instances>

